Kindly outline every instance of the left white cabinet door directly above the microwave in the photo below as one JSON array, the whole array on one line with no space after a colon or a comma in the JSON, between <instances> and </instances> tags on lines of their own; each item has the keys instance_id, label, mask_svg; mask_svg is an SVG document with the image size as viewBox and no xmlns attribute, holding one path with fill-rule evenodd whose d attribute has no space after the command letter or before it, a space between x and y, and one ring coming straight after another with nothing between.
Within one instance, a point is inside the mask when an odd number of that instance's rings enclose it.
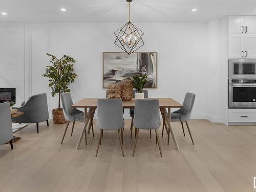
<instances>
[{"instance_id":1,"label":"left white cabinet door directly above the microwave","mask_svg":"<svg viewBox=\"0 0 256 192\"><path fill-rule=\"evenodd\" d=\"M244 58L244 35L228 35L228 58Z\"/></svg>"}]
</instances>

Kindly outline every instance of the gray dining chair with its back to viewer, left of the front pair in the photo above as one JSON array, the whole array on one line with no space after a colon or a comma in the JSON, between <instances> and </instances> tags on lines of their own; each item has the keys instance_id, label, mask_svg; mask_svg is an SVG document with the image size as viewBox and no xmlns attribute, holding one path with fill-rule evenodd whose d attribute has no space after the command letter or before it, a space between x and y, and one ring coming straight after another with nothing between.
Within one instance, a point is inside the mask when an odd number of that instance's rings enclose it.
<instances>
[{"instance_id":1,"label":"gray dining chair with its back to viewer, left of the front pair","mask_svg":"<svg viewBox=\"0 0 256 192\"><path fill-rule=\"evenodd\" d=\"M122 129L124 125L123 120L123 105L121 99L98 99L97 101L97 126L100 129L99 142L96 150L98 155L99 145L101 144L103 130L117 130L119 142L121 146L122 155L123 144L122 144Z\"/></svg>"}]
</instances>

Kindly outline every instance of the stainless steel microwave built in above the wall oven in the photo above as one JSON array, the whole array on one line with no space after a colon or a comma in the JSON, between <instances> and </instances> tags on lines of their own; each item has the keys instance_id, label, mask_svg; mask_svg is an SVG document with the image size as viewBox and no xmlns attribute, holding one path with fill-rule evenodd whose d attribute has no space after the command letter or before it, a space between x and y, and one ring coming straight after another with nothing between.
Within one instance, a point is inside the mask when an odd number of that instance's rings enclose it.
<instances>
[{"instance_id":1,"label":"stainless steel microwave built in above the wall oven","mask_svg":"<svg viewBox=\"0 0 256 192\"><path fill-rule=\"evenodd\" d=\"M256 59L229 59L229 79L256 79Z\"/></svg>"}]
</instances>

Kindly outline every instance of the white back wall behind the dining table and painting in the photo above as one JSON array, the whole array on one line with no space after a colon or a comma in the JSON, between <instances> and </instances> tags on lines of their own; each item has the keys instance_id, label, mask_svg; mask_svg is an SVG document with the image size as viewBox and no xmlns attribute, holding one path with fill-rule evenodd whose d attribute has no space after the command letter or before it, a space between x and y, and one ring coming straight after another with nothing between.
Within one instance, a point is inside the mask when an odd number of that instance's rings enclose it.
<instances>
[{"instance_id":1,"label":"white back wall behind the dining table and painting","mask_svg":"<svg viewBox=\"0 0 256 192\"><path fill-rule=\"evenodd\" d=\"M70 86L74 101L85 97L104 97L102 52L120 52L114 45L113 32L121 25L0 24L0 87L17 88L19 97L16 105L32 94L47 92L51 113L51 109L57 107L57 98L50 96L47 81L41 77L49 62L45 53L50 52L58 57L68 54L77 60L75 71L78 78ZM149 90L150 96L172 97L182 102L186 92L193 92L196 94L193 118L221 121L220 20L208 24L136 25L145 32L145 45L139 51L158 53L158 88ZM16 30L19 33L15 33ZM217 66L217 73L212 73L212 66ZM24 75L19 76L23 71ZM209 89L209 82L214 91ZM209 98L214 108L207 104Z\"/></svg>"}]
</instances>

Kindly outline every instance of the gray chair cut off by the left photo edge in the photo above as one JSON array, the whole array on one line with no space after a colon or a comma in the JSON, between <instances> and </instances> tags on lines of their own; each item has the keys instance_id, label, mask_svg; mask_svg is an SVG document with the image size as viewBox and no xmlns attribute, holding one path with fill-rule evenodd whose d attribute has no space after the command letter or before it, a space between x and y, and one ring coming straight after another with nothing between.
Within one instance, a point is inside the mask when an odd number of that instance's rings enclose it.
<instances>
[{"instance_id":1,"label":"gray chair cut off by the left photo edge","mask_svg":"<svg viewBox=\"0 0 256 192\"><path fill-rule=\"evenodd\" d=\"M9 142L13 150L10 102L0 103L0 122L0 145Z\"/></svg>"}]
</instances>

